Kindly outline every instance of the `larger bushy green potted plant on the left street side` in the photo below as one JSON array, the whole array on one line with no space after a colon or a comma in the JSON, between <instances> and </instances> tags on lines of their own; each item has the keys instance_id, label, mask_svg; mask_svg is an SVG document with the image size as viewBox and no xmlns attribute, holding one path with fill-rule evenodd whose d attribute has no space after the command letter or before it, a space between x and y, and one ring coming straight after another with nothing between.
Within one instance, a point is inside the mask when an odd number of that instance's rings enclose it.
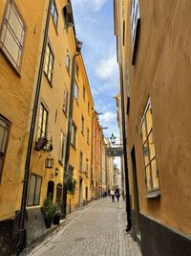
<instances>
[{"instance_id":1,"label":"larger bushy green potted plant on the left street side","mask_svg":"<svg viewBox=\"0 0 191 256\"><path fill-rule=\"evenodd\" d=\"M51 227L55 212L56 212L56 205L53 203L51 197L46 198L44 201L43 214L44 214L45 224L47 228Z\"/></svg>"}]
</instances>

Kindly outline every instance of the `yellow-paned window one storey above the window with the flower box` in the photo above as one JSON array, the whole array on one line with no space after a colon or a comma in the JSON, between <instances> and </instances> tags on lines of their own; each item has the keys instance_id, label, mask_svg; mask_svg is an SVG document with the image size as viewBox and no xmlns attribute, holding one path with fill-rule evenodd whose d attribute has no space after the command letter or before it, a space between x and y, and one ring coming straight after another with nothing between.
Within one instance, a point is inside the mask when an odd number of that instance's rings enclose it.
<instances>
[{"instance_id":1,"label":"yellow-paned window one storey above the window with the flower box","mask_svg":"<svg viewBox=\"0 0 191 256\"><path fill-rule=\"evenodd\" d=\"M47 49L46 49L46 56L45 56L45 67L44 71L46 74L46 77L50 82L53 80L53 52L51 50L51 46L48 43Z\"/></svg>"}]
</instances>

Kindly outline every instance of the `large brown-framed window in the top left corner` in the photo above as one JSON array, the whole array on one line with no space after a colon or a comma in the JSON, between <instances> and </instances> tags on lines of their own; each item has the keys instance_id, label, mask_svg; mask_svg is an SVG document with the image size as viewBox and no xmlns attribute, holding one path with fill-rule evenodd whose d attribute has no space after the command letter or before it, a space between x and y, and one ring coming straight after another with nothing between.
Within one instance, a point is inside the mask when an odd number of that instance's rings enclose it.
<instances>
[{"instance_id":1,"label":"large brown-framed window in the top left corner","mask_svg":"<svg viewBox=\"0 0 191 256\"><path fill-rule=\"evenodd\" d=\"M2 23L0 48L12 66L19 71L23 54L26 27L14 1L8 2L8 8Z\"/></svg>"}]
</instances>

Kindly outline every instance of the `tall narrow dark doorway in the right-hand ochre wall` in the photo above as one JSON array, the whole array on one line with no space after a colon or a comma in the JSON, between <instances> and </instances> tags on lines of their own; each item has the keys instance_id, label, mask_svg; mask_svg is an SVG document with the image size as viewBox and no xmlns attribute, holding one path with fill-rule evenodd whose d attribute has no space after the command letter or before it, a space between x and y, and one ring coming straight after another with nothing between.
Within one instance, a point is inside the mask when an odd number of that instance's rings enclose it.
<instances>
[{"instance_id":1,"label":"tall narrow dark doorway in the right-hand ochre wall","mask_svg":"<svg viewBox=\"0 0 191 256\"><path fill-rule=\"evenodd\" d=\"M139 228L139 202L138 202L138 174L136 164L136 150L133 147L131 151L133 189L134 189L134 213L133 213L133 238L140 243L140 228Z\"/></svg>"}]
</instances>

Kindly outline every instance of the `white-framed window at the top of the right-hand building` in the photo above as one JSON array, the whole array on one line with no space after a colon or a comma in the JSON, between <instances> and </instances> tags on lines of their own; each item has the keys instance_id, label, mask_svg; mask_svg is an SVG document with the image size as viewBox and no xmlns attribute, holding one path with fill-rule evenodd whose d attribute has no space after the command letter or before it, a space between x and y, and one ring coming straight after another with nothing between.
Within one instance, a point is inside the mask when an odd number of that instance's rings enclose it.
<instances>
[{"instance_id":1,"label":"white-framed window at the top of the right-hand building","mask_svg":"<svg viewBox=\"0 0 191 256\"><path fill-rule=\"evenodd\" d=\"M139 2L138 0L132 0L131 2L131 31L132 31L132 43L133 49L137 38L138 20L140 18Z\"/></svg>"}]
</instances>

